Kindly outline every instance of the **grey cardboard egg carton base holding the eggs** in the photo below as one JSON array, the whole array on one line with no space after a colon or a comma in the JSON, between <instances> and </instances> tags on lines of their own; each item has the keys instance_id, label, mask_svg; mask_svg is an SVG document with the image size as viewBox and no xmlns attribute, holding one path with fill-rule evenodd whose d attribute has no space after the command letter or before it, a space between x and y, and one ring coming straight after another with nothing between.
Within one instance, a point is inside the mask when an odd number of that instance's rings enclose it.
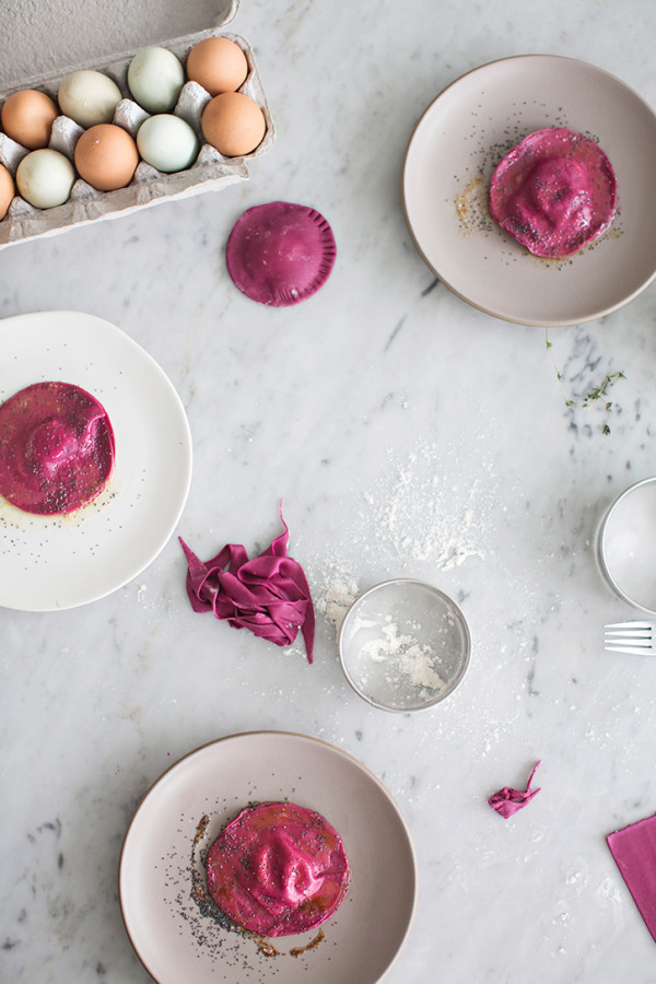
<instances>
[{"instance_id":1,"label":"grey cardboard egg carton base holding the eggs","mask_svg":"<svg viewBox=\"0 0 656 984\"><path fill-rule=\"evenodd\" d=\"M87 222L99 219L115 219L129 215L137 209L157 204L171 199L189 198L201 191L220 190L236 181L248 179L247 161L266 153L276 139L276 130L261 81L255 63L253 50L244 38L229 34L219 28L189 34L172 42L164 42L159 47L167 48L180 59L183 66L191 48L206 37L227 37L235 42L246 56L248 75L239 92L250 96L265 115L267 132L262 142L250 154L239 157L225 157L211 144L203 141L200 118L207 104L212 98L209 92L197 82L185 82L175 108L172 110L188 122L198 137L200 151L196 162L186 171L164 174L156 171L145 161L140 161L129 185L117 191L97 191L82 178L73 184L69 200L54 209L36 209L17 194L11 202L5 218L0 221L0 249L13 243L24 242L36 236L55 235ZM145 46L148 47L148 46ZM136 103L128 87L128 68L130 61L143 47L127 51L105 62L86 62L66 71L49 73L32 79L21 89L38 89L57 101L59 83L72 71L95 69L113 79L120 89L124 98L116 107L114 122L122 127L131 137L137 137L141 124L151 116ZM0 104L4 103L16 86L0 93ZM65 154L74 165L75 144L84 129L67 116L58 116L52 124L48 147ZM15 177L16 168L30 151L16 143L5 133L0 133L0 163Z\"/></svg>"}]
</instances>

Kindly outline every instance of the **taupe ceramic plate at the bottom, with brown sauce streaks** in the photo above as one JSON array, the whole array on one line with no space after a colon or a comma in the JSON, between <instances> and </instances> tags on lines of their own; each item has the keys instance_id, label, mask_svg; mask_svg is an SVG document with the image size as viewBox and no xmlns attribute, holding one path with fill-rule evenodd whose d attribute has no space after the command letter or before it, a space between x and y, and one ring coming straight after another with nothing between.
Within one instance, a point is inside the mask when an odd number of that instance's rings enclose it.
<instances>
[{"instance_id":1,"label":"taupe ceramic plate at the bottom, with brown sauce streaks","mask_svg":"<svg viewBox=\"0 0 656 984\"><path fill-rule=\"evenodd\" d=\"M203 815L209 846L249 803L285 798L338 830L352 881L315 949L289 953L316 932L279 937L281 954L272 958L201 914L191 898L191 857ZM360 762L315 738L250 731L192 751L152 786L126 834L119 894L132 946L159 984L374 984L410 927L417 860L397 805Z\"/></svg>"}]
</instances>

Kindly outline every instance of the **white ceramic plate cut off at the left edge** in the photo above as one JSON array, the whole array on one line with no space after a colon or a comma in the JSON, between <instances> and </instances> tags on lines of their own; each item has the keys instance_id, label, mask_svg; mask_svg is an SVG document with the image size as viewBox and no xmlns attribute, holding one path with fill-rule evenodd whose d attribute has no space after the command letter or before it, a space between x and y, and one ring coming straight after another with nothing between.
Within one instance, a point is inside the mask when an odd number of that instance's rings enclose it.
<instances>
[{"instance_id":1,"label":"white ceramic plate cut off at the left edge","mask_svg":"<svg viewBox=\"0 0 656 984\"><path fill-rule=\"evenodd\" d=\"M74 608L136 577L169 539L191 480L185 410L153 359L92 315L5 318L0 350L0 402L31 383L73 383L103 403L114 427L114 473L90 505L35 516L0 497L0 605Z\"/></svg>"}]
</instances>

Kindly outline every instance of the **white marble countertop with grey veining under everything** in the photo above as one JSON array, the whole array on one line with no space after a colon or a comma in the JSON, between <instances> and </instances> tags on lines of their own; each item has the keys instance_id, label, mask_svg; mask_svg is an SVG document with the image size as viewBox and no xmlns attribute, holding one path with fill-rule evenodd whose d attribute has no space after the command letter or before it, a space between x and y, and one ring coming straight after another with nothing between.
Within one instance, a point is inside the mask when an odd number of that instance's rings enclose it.
<instances>
[{"instance_id":1,"label":"white marble countertop with grey veining under everything","mask_svg":"<svg viewBox=\"0 0 656 984\"><path fill-rule=\"evenodd\" d=\"M0 977L150 980L117 900L129 818L176 758L263 728L351 752L408 819L419 906L389 984L654 981L605 837L656 810L656 663L602 651L604 622L633 611L593 542L610 499L656 472L656 289L551 330L549 351L434 283L399 175L437 92L506 55L594 61L655 105L656 9L243 0L233 30L278 127L250 181L3 250L0 314L90 312L161 363L194 435L178 531L204 555L261 549L282 499L323 610L316 660L194 614L175 539L104 600L0 610ZM273 311L234 289L224 244L278 198L328 218L338 260L313 300ZM608 417L565 406L552 355L577 401L625 374ZM473 637L460 688L417 716L368 708L337 658L330 589L395 575L452 594ZM537 759L541 793L500 819L487 797Z\"/></svg>"}]
</instances>

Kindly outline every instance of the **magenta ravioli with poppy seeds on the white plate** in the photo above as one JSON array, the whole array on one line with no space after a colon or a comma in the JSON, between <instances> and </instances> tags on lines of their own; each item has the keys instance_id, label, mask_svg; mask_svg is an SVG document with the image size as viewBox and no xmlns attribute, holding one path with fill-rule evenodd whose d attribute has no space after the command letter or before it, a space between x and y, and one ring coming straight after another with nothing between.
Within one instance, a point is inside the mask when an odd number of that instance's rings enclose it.
<instances>
[{"instance_id":1,"label":"magenta ravioli with poppy seeds on the white plate","mask_svg":"<svg viewBox=\"0 0 656 984\"><path fill-rule=\"evenodd\" d=\"M72 513L114 469L102 403L69 383L34 383L0 406L0 494L26 513Z\"/></svg>"}]
</instances>

